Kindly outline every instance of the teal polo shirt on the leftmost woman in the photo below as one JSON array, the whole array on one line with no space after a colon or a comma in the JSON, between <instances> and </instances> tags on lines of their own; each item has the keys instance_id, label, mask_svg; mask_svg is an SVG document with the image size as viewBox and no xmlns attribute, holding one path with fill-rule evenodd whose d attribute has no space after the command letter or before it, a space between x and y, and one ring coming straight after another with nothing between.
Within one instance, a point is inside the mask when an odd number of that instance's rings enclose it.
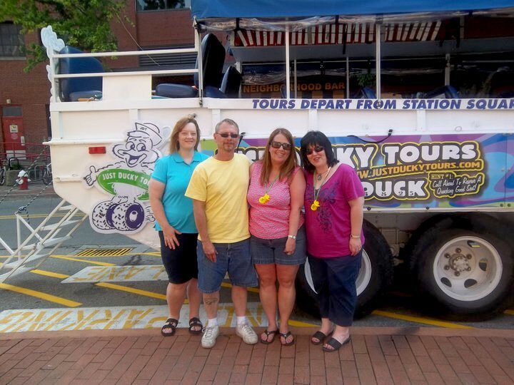
<instances>
[{"instance_id":1,"label":"teal polo shirt on the leftmost woman","mask_svg":"<svg viewBox=\"0 0 514 385\"><path fill-rule=\"evenodd\" d=\"M208 155L195 151L191 164L185 163L178 153L173 153L157 160L152 179L166 185L162 197L164 213L170 225L180 232L189 234L198 232L193 216L193 200L186 197L186 189L198 164L206 160ZM161 226L156 222L156 230Z\"/></svg>"}]
</instances>

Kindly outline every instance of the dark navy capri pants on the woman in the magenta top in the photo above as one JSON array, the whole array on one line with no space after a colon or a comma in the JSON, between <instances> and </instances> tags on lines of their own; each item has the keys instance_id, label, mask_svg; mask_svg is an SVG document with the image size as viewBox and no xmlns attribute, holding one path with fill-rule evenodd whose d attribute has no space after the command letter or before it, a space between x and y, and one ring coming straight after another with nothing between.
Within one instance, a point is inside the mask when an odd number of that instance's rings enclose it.
<instances>
[{"instance_id":1,"label":"dark navy capri pants on the woman in the magenta top","mask_svg":"<svg viewBox=\"0 0 514 385\"><path fill-rule=\"evenodd\" d=\"M316 258L308 255L321 318L349 327L357 307L356 280L361 269L362 250L352 257Z\"/></svg>"}]
</instances>

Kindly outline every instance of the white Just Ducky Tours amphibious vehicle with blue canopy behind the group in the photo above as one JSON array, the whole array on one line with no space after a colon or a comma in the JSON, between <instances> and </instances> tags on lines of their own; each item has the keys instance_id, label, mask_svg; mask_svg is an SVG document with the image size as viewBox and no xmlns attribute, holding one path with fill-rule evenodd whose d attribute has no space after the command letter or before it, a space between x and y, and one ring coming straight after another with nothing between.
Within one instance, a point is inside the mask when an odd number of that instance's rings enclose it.
<instances>
[{"instance_id":1,"label":"white Just Ducky Tours amphibious vehicle with blue canopy behind the group","mask_svg":"<svg viewBox=\"0 0 514 385\"><path fill-rule=\"evenodd\" d=\"M321 130L366 191L357 315L393 265L439 314L485 319L510 305L514 1L192 0L191 14L193 48L83 53L41 31L54 189L94 230L158 249L148 180L183 116L196 116L207 154L214 125L236 120L250 160L274 128L297 145ZM102 63L186 53L196 66ZM306 264L297 302L314 310L310 282Z\"/></svg>"}]
</instances>

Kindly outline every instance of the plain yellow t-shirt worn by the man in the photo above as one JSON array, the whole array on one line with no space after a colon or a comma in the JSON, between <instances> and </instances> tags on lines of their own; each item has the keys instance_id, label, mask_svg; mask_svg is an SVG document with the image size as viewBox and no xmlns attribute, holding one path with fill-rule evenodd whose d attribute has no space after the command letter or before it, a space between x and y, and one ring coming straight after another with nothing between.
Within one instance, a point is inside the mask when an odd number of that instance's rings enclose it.
<instances>
[{"instance_id":1,"label":"plain yellow t-shirt worn by the man","mask_svg":"<svg viewBox=\"0 0 514 385\"><path fill-rule=\"evenodd\" d=\"M186 197L206 203L207 232L213 243L250 237L246 202L249 168L245 155L234 154L228 161L208 158L193 171Z\"/></svg>"}]
</instances>

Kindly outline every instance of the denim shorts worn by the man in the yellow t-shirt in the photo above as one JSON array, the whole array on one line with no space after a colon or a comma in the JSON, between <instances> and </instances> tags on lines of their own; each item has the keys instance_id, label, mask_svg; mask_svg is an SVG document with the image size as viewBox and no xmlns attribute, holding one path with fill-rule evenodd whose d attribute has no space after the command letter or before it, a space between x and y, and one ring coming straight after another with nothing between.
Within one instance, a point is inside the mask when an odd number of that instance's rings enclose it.
<instances>
[{"instance_id":1,"label":"denim shorts worn by the man in the yellow t-shirt","mask_svg":"<svg viewBox=\"0 0 514 385\"><path fill-rule=\"evenodd\" d=\"M203 253L203 245L198 240L198 289L203 293L219 292L221 282L228 272L234 286L256 287L257 273L253 268L250 254L250 240L234 243L214 243L216 262L208 260Z\"/></svg>"}]
</instances>

